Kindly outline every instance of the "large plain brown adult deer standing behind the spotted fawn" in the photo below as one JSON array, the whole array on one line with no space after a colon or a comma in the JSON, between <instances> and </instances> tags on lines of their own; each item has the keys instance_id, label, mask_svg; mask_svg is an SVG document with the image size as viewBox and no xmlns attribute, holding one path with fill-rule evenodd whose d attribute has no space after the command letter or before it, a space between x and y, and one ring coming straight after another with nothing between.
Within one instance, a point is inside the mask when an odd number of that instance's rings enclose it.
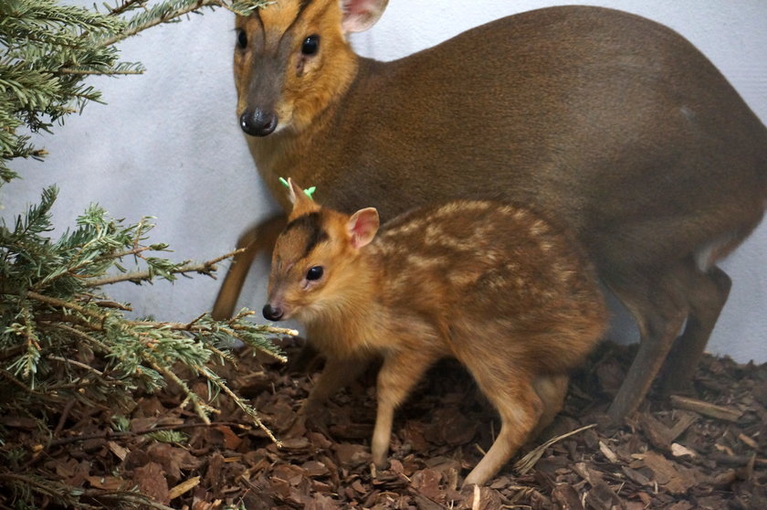
<instances>
[{"instance_id":1,"label":"large plain brown adult deer standing behind the spotted fawn","mask_svg":"<svg viewBox=\"0 0 767 510\"><path fill-rule=\"evenodd\" d=\"M688 41L639 16L552 7L392 62L360 58L347 35L385 5L278 0L237 18L237 114L273 195L287 210L284 175L384 219L456 197L540 205L638 324L610 414L636 409L667 355L664 387L682 388L730 292L716 263L762 219L762 122ZM216 316L284 224L242 236Z\"/></svg>"}]
</instances>

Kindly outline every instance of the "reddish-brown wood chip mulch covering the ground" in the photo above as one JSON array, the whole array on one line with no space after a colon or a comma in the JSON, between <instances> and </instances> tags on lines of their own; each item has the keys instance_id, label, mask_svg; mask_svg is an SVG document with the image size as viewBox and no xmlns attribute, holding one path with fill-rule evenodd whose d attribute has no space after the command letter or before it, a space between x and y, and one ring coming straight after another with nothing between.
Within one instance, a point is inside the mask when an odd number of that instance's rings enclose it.
<instances>
[{"instance_id":1,"label":"reddish-brown wood chip mulch covering the ground","mask_svg":"<svg viewBox=\"0 0 767 510\"><path fill-rule=\"evenodd\" d=\"M286 340L294 359L297 349ZM384 471L370 463L374 373L329 402L326 427L286 439L282 448L226 397L215 401L214 423L203 426L180 409L173 388L140 398L125 413L123 432L107 430L116 418L108 411L79 406L58 417L54 438L38 436L20 417L0 417L0 426L5 448L35 452L22 472L89 494L138 488L179 509L767 509L767 364L706 356L690 394L650 396L617 425L604 411L633 352L603 345L573 377L565 409L543 437L488 486L464 490L463 477L489 448L499 421L466 372L449 361L434 367L399 409ZM247 352L225 375L278 436L317 376ZM206 395L205 383L195 390ZM546 439L592 424L542 448L526 473L515 471L514 462ZM188 439L167 443L145 433L157 428ZM0 487L0 503L13 507L8 497ZM44 507L58 508L54 499Z\"/></svg>"}]
</instances>

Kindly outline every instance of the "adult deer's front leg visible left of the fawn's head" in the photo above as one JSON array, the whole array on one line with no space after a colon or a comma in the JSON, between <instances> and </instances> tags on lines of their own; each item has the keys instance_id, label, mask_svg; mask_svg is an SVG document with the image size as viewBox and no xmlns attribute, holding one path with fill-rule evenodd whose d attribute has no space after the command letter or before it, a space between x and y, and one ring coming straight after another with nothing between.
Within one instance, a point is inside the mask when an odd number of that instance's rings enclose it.
<instances>
[{"instance_id":1,"label":"adult deer's front leg visible left of the fawn's head","mask_svg":"<svg viewBox=\"0 0 767 510\"><path fill-rule=\"evenodd\" d=\"M247 228L245 232L237 239L237 248L244 248L235 255L226 271L226 278L221 284L221 289L215 297L213 305L213 318L216 320L226 320L232 316L235 311L237 299L242 286L247 278L247 271L259 251L265 251L271 254L274 249L274 243L277 241L279 233L285 228L286 218L284 215L273 216L264 221Z\"/></svg>"}]
</instances>

